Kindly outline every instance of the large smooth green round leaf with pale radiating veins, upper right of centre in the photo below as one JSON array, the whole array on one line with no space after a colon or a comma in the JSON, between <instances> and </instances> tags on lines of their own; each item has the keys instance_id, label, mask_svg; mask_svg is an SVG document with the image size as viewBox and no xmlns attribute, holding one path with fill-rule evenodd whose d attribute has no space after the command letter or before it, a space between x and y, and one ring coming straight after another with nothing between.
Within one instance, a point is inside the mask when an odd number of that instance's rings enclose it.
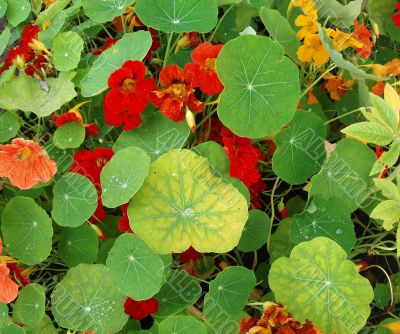
<instances>
[{"instance_id":1,"label":"large smooth green round leaf with pale radiating veins, upper right of centre","mask_svg":"<svg viewBox=\"0 0 400 334\"><path fill-rule=\"evenodd\" d=\"M217 60L225 86L218 115L243 137L273 134L294 116L300 95L299 70L279 43L244 35L228 42Z\"/></svg>"}]
</instances>

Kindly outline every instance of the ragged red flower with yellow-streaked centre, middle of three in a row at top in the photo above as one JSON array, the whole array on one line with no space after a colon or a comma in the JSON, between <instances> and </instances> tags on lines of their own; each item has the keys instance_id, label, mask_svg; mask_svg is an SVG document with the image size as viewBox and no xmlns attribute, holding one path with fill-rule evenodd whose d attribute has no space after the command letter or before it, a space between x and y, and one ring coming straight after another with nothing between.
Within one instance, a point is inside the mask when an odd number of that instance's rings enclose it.
<instances>
[{"instance_id":1,"label":"ragged red flower with yellow-streaked centre, middle of three in a row at top","mask_svg":"<svg viewBox=\"0 0 400 334\"><path fill-rule=\"evenodd\" d=\"M192 87L193 73L176 65L166 66L160 73L160 83L166 88L150 94L150 101L174 122L185 119L185 107L193 112L203 111L204 104L196 99Z\"/></svg>"}]
</instances>

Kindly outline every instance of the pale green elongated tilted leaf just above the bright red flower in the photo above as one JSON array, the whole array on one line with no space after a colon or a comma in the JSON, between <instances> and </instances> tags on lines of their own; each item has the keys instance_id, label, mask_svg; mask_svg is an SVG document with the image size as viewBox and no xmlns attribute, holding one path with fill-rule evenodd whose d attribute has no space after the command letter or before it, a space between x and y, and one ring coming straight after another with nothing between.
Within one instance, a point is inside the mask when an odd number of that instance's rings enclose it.
<instances>
[{"instance_id":1,"label":"pale green elongated tilted leaf just above the bright red flower","mask_svg":"<svg viewBox=\"0 0 400 334\"><path fill-rule=\"evenodd\" d=\"M95 0L98 5L99 2ZM89 72L81 80L84 97L98 95L108 88L108 78L127 60L141 60L151 47L151 35L147 31L124 34L115 45L105 50L93 63Z\"/></svg>"}]
</instances>

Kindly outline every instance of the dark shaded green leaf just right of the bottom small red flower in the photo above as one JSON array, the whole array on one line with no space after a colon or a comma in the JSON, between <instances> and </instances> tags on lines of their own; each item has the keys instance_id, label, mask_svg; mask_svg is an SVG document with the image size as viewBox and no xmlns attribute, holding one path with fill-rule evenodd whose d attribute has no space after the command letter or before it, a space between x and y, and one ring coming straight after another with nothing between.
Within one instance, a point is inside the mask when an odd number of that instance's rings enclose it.
<instances>
[{"instance_id":1,"label":"dark shaded green leaf just right of the bottom small red flower","mask_svg":"<svg viewBox=\"0 0 400 334\"><path fill-rule=\"evenodd\" d=\"M194 304L201 295L198 281L184 270L172 270L155 298L159 308L155 316L167 317Z\"/></svg>"}]
</instances>

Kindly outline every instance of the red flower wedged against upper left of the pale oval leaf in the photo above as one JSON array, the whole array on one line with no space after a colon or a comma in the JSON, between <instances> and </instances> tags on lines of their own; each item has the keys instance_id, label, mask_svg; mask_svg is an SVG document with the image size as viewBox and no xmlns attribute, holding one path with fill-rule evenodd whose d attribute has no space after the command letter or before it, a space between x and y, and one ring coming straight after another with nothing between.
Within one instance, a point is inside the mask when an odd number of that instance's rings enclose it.
<instances>
[{"instance_id":1,"label":"red flower wedged against upper left of the pale oval leaf","mask_svg":"<svg viewBox=\"0 0 400 334\"><path fill-rule=\"evenodd\" d=\"M112 150L103 147L98 147L93 152L89 150L76 152L70 172L86 176L97 190L101 190L100 173L113 155Z\"/></svg>"}]
</instances>

